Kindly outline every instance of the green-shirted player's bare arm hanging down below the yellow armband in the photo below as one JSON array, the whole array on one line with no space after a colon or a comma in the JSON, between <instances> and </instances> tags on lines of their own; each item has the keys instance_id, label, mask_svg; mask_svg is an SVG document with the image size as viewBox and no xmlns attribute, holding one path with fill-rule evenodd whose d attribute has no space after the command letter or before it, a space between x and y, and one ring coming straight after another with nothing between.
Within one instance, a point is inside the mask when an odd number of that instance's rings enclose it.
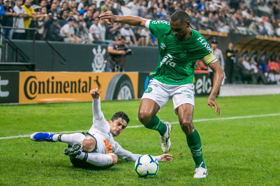
<instances>
[{"instance_id":1,"label":"green-shirted player's bare arm hanging down below the yellow armband","mask_svg":"<svg viewBox=\"0 0 280 186\"><path fill-rule=\"evenodd\" d=\"M215 98L223 81L223 69L218 61L216 61L215 63L209 63L208 66L214 72L214 81L211 93L208 97L207 104L213 109L215 108L215 112L217 113L217 115L221 115L220 107L215 102Z\"/></svg>"}]
</instances>

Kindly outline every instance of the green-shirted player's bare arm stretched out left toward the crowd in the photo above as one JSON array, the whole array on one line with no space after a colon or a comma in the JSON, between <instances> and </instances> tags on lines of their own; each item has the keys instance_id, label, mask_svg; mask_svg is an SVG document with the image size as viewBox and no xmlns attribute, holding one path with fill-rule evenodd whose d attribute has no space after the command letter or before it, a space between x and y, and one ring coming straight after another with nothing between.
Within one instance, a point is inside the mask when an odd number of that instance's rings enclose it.
<instances>
[{"instance_id":1,"label":"green-shirted player's bare arm stretched out left toward the crowd","mask_svg":"<svg viewBox=\"0 0 280 186\"><path fill-rule=\"evenodd\" d=\"M140 18L137 16L127 15L127 16L119 16L113 15L112 12L104 12L99 15L100 19L104 19L108 25L113 23L125 23L132 26L142 26L145 28L145 24L147 19Z\"/></svg>"}]
</instances>

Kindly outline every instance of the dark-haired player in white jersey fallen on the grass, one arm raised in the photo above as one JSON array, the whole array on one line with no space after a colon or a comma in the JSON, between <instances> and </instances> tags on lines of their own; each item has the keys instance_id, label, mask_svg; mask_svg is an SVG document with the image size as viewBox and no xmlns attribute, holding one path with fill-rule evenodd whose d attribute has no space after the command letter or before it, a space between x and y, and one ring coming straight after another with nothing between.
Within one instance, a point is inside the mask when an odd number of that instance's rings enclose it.
<instances>
[{"instance_id":1,"label":"dark-haired player in white jersey fallen on the grass, one arm raised","mask_svg":"<svg viewBox=\"0 0 280 186\"><path fill-rule=\"evenodd\" d=\"M122 111L116 112L109 122L104 118L100 106L99 90L90 90L93 98L93 125L86 134L50 134L33 133L30 138L35 142L63 142L69 148L64 154L70 156L71 163L76 167L100 169L114 166L118 158L136 161L140 154L132 154L124 150L114 137L120 135L129 123L129 117ZM171 161L172 155L155 156L158 161Z\"/></svg>"}]
</instances>

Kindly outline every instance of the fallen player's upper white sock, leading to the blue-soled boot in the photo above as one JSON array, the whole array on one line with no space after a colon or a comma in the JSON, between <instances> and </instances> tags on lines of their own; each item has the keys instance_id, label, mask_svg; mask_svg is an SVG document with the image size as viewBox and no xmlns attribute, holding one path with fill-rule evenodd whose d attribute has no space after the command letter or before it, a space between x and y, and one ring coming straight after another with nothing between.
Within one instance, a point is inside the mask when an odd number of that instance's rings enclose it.
<instances>
[{"instance_id":1,"label":"fallen player's upper white sock, leading to the blue-soled boot","mask_svg":"<svg viewBox=\"0 0 280 186\"><path fill-rule=\"evenodd\" d=\"M73 145L75 143L81 143L83 144L84 139L86 136L82 133L73 133L73 134L54 134L52 136L52 139L55 142L63 142L63 143L68 143L69 145Z\"/></svg>"}]
</instances>

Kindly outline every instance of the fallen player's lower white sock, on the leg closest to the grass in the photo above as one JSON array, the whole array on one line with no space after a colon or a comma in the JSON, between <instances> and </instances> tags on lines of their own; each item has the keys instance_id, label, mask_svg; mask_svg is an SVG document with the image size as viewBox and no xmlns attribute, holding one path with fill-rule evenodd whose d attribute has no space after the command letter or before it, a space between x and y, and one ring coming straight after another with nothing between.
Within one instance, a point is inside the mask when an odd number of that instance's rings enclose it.
<instances>
[{"instance_id":1,"label":"fallen player's lower white sock, on the leg closest to the grass","mask_svg":"<svg viewBox=\"0 0 280 186\"><path fill-rule=\"evenodd\" d=\"M97 152L87 153L88 157L86 162L96 165L96 166L107 166L113 163L113 158L107 154L101 154ZM76 158L82 160L85 157L85 152L82 152L80 155L76 156Z\"/></svg>"}]
</instances>

